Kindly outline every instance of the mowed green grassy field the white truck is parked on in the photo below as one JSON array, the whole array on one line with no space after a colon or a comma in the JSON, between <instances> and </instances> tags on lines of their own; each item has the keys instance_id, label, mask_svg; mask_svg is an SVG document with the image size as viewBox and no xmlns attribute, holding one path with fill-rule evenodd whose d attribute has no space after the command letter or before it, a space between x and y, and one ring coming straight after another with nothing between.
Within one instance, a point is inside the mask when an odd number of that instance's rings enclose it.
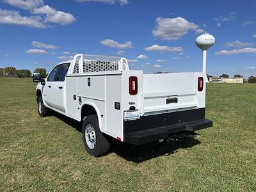
<instances>
[{"instance_id":1,"label":"mowed green grassy field the white truck is parked on","mask_svg":"<svg viewBox=\"0 0 256 192\"><path fill-rule=\"evenodd\" d=\"M89 156L80 125L40 118L31 79L0 78L0 191L256 191L256 84L207 84L199 140Z\"/></svg>"}]
</instances>

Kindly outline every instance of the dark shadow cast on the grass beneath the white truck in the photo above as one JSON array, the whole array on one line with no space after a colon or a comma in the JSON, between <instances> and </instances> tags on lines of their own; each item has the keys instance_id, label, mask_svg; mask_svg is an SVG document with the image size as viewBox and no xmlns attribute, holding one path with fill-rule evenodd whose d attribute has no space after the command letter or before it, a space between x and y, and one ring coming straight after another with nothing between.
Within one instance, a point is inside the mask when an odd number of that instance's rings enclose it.
<instances>
[{"instance_id":1,"label":"dark shadow cast on the grass beneath the white truck","mask_svg":"<svg viewBox=\"0 0 256 192\"><path fill-rule=\"evenodd\" d=\"M56 118L74 127L77 131L82 132L82 124L80 122L54 111L52 111L51 115L56 116ZM179 152L180 148L191 148L201 143L193 138L181 138L179 141L171 141L170 143L164 141L163 143L148 143L147 145L139 146L122 143L113 138L109 138L109 141L111 141L109 153L114 152L127 161L134 163L141 163L159 156L170 156Z\"/></svg>"}]
</instances>

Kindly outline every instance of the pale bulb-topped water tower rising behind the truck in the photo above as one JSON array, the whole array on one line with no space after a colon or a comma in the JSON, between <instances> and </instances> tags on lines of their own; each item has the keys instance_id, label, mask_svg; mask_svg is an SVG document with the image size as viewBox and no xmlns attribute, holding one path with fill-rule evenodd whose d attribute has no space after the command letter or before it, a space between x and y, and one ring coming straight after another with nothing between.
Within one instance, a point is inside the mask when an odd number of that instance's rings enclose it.
<instances>
[{"instance_id":1,"label":"pale bulb-topped water tower rising behind the truck","mask_svg":"<svg viewBox=\"0 0 256 192\"><path fill-rule=\"evenodd\" d=\"M202 71L206 73L206 53L207 49L209 49L215 43L215 38L209 33L205 32L203 35L200 35L196 38L196 46L202 49L203 51L203 68Z\"/></svg>"}]
</instances>

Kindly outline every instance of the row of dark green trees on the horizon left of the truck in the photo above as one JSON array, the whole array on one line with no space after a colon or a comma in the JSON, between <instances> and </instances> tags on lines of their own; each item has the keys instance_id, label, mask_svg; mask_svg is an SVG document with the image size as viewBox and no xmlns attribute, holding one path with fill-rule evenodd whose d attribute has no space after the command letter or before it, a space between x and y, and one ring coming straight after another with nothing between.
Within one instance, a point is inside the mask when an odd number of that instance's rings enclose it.
<instances>
[{"instance_id":1,"label":"row of dark green trees on the horizon left of the truck","mask_svg":"<svg viewBox=\"0 0 256 192\"><path fill-rule=\"evenodd\" d=\"M45 68L36 68L34 73L36 72L40 72L43 78L47 77ZM0 68L0 77L26 78L31 77L31 71L28 69L16 69L15 67L4 67Z\"/></svg>"}]
</instances>

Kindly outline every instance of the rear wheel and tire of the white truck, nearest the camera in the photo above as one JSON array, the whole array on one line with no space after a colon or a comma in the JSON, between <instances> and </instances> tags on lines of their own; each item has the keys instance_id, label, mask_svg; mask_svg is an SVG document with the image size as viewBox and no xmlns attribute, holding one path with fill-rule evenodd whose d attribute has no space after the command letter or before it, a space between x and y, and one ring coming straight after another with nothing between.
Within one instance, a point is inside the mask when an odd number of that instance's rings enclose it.
<instances>
[{"instance_id":1,"label":"rear wheel and tire of the white truck, nearest the camera","mask_svg":"<svg viewBox=\"0 0 256 192\"><path fill-rule=\"evenodd\" d=\"M88 154L100 157L107 154L110 144L99 129L97 115L89 115L83 122L83 141Z\"/></svg>"}]
</instances>

